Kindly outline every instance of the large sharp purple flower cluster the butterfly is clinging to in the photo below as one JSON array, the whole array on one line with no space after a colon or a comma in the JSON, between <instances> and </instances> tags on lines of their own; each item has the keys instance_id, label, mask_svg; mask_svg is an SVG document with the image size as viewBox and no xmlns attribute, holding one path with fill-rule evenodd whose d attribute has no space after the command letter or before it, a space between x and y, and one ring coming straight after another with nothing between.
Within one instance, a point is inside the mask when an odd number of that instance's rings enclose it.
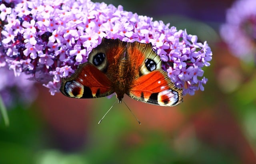
<instances>
[{"instance_id":1,"label":"large sharp purple flower cluster the butterfly is clinging to","mask_svg":"<svg viewBox=\"0 0 256 164\"><path fill-rule=\"evenodd\" d=\"M202 67L210 65L212 51L186 30L90 0L17 0L0 5L4 24L0 65L15 75L32 74L52 95L60 88L60 78L86 62L104 37L152 43L163 69L177 87L184 88L184 95L204 90L207 79Z\"/></svg>"}]
</instances>

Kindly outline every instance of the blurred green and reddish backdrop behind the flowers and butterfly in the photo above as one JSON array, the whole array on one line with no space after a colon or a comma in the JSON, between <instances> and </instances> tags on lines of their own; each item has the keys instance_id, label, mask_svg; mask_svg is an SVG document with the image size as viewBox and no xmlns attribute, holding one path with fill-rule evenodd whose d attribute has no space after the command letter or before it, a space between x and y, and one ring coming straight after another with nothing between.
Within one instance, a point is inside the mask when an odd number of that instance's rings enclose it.
<instances>
[{"instance_id":1,"label":"blurred green and reddish backdrop behind the flowers and butterfly","mask_svg":"<svg viewBox=\"0 0 256 164\"><path fill-rule=\"evenodd\" d=\"M99 2L99 1L98 1ZM205 91L178 107L157 107L125 96L101 124L112 99L77 100L36 84L32 105L0 119L0 164L256 164L255 66L234 57L219 26L233 0L105 0L124 10L186 28L213 52Z\"/></svg>"}]
</instances>

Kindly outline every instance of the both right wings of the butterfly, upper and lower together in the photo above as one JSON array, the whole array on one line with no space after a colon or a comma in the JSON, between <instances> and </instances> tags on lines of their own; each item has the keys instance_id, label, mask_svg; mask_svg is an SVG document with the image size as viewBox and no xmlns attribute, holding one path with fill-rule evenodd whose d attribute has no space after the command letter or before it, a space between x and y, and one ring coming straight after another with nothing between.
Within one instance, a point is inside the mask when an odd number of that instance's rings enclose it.
<instances>
[{"instance_id":1,"label":"both right wings of the butterfly, upper and lower together","mask_svg":"<svg viewBox=\"0 0 256 164\"><path fill-rule=\"evenodd\" d=\"M127 43L127 52L138 72L127 95L132 99L160 106L175 106L182 103L182 89L174 86L166 71L162 70L160 57L152 45L133 42Z\"/></svg>"}]
</instances>

